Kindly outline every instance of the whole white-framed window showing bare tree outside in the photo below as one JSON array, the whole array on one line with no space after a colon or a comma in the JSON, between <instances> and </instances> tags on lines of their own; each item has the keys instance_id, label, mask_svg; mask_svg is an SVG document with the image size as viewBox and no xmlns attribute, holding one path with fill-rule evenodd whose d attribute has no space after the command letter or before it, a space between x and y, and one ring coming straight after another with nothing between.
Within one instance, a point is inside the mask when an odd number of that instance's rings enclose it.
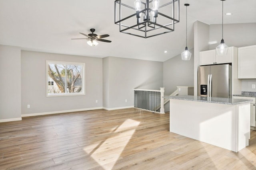
<instances>
[{"instance_id":1,"label":"whole white-framed window showing bare tree outside","mask_svg":"<svg viewBox=\"0 0 256 170\"><path fill-rule=\"evenodd\" d=\"M85 95L84 63L46 61L46 96Z\"/></svg>"}]
</instances>

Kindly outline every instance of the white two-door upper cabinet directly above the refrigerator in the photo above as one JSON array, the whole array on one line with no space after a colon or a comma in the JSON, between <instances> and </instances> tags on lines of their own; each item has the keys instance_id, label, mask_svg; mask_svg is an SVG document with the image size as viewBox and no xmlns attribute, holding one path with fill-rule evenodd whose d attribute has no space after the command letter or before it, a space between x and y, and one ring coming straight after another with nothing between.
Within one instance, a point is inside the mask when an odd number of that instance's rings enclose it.
<instances>
[{"instance_id":1,"label":"white two-door upper cabinet directly above the refrigerator","mask_svg":"<svg viewBox=\"0 0 256 170\"><path fill-rule=\"evenodd\" d=\"M216 55L215 50L200 52L200 65L232 63L234 47L228 47L227 55Z\"/></svg>"}]
</instances>

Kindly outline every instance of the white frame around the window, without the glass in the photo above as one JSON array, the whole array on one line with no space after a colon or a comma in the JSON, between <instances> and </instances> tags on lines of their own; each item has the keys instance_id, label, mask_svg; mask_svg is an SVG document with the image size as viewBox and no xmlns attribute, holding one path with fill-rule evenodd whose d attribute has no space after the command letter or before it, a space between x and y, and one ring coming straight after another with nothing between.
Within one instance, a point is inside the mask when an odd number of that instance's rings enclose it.
<instances>
[{"instance_id":1,"label":"white frame around the window, without the glass","mask_svg":"<svg viewBox=\"0 0 256 170\"><path fill-rule=\"evenodd\" d=\"M82 65L82 90L81 92L75 93L56 93L48 94L48 64L65 64L65 65ZM66 73L67 74L67 73ZM66 75L67 76L67 75ZM57 97L57 96L81 96L85 95L85 63L78 62L66 62L66 61L46 61L46 97Z\"/></svg>"}]
</instances>

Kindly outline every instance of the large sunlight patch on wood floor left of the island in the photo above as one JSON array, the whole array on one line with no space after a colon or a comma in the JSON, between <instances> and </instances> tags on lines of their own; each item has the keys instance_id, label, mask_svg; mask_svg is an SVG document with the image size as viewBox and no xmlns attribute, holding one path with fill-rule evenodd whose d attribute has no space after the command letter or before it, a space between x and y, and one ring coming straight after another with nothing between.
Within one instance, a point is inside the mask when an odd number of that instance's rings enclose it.
<instances>
[{"instance_id":1,"label":"large sunlight patch on wood floor left of the island","mask_svg":"<svg viewBox=\"0 0 256 170\"><path fill-rule=\"evenodd\" d=\"M90 154L102 168L112 169L139 124L139 121L126 119L122 125L110 132L110 137L105 141L86 146L84 151Z\"/></svg>"}]
</instances>

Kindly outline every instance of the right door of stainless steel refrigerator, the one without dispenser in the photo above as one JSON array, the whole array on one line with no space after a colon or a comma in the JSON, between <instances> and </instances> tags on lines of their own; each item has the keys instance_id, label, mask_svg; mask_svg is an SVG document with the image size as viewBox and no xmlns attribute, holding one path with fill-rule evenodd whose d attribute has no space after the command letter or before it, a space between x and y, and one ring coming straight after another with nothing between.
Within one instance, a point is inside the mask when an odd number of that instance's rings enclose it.
<instances>
[{"instance_id":1,"label":"right door of stainless steel refrigerator, the one without dispenser","mask_svg":"<svg viewBox=\"0 0 256 170\"><path fill-rule=\"evenodd\" d=\"M231 66L229 64L211 65L212 97L229 98L231 92Z\"/></svg>"}]
</instances>

